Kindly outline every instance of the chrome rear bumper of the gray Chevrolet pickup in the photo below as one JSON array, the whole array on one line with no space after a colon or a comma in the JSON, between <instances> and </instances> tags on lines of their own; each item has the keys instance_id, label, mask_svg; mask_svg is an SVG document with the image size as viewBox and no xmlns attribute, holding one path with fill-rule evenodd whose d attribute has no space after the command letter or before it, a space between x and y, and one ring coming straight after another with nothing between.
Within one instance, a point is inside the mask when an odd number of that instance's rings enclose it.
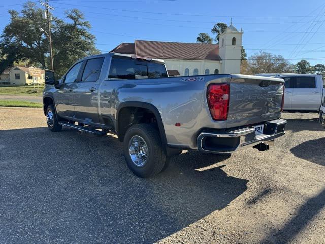
<instances>
[{"instance_id":1,"label":"chrome rear bumper of the gray Chevrolet pickup","mask_svg":"<svg viewBox=\"0 0 325 244\"><path fill-rule=\"evenodd\" d=\"M197 138L200 151L214 154L230 154L245 146L255 146L259 143L272 142L284 135L286 120L276 119L264 124L263 134L256 135L253 127L245 127L225 132L206 129Z\"/></svg>"}]
</instances>

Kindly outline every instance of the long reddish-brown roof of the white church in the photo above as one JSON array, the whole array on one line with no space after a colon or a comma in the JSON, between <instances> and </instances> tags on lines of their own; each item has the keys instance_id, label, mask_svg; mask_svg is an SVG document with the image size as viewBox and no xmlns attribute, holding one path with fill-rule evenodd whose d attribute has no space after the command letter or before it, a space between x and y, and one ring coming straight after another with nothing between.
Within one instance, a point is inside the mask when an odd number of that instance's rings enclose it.
<instances>
[{"instance_id":1,"label":"long reddish-brown roof of the white church","mask_svg":"<svg viewBox=\"0 0 325 244\"><path fill-rule=\"evenodd\" d=\"M135 43L121 43L111 52L161 59L221 60L219 45L205 43L135 40Z\"/></svg>"}]
</instances>

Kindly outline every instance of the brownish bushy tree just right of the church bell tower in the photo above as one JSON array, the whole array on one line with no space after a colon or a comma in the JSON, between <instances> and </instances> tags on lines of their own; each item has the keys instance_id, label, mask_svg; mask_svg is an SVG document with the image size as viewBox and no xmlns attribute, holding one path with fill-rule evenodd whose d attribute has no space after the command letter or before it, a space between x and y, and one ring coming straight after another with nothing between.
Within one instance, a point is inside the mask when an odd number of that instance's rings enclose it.
<instances>
[{"instance_id":1,"label":"brownish bushy tree just right of the church bell tower","mask_svg":"<svg viewBox=\"0 0 325 244\"><path fill-rule=\"evenodd\" d=\"M241 72L243 74L255 75L258 73L290 73L293 66L281 55L268 52L258 52L244 60Z\"/></svg>"}]
</instances>

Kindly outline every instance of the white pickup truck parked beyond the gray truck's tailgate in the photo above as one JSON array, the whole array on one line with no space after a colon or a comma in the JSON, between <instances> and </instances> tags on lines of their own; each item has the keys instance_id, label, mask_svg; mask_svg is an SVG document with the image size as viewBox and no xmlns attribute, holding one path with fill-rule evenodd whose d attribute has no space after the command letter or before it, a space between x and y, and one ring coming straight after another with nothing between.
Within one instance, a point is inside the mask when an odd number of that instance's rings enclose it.
<instances>
[{"instance_id":1,"label":"white pickup truck parked beyond the gray truck's tailgate","mask_svg":"<svg viewBox=\"0 0 325 244\"><path fill-rule=\"evenodd\" d=\"M319 112L324 100L321 75L313 74L257 74L284 79L284 111Z\"/></svg>"}]
</instances>

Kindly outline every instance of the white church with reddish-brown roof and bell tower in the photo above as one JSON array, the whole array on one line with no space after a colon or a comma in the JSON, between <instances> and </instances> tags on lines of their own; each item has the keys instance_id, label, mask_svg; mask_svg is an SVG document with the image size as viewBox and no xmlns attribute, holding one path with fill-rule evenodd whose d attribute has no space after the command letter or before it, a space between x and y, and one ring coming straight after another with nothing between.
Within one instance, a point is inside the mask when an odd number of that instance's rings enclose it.
<instances>
[{"instance_id":1,"label":"white church with reddish-brown roof and bell tower","mask_svg":"<svg viewBox=\"0 0 325 244\"><path fill-rule=\"evenodd\" d=\"M163 59L169 76L239 74L242 36L231 24L220 35L219 44L135 40L111 52Z\"/></svg>"}]
</instances>

